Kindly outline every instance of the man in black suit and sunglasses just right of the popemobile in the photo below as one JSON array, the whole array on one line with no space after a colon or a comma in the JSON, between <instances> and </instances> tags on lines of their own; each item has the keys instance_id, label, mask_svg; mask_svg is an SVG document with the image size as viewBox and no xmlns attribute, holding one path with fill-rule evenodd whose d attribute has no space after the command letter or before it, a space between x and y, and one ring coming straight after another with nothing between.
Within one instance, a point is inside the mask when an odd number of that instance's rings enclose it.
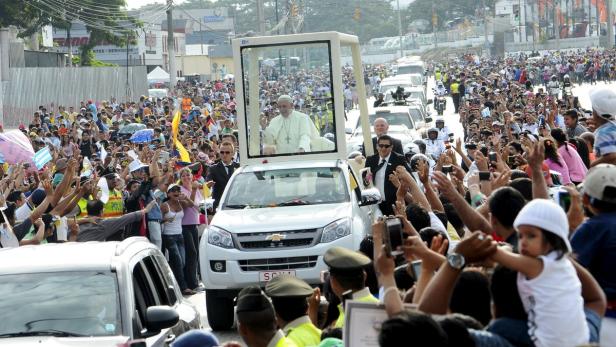
<instances>
[{"instance_id":1,"label":"man in black suit and sunglasses just right of the popemobile","mask_svg":"<svg viewBox=\"0 0 616 347\"><path fill-rule=\"evenodd\" d=\"M393 143L394 141L391 136L382 135L377 143L378 154L366 159L366 167L369 167L372 173L372 182L381 192L383 199L383 202L379 204L379 208L383 215L386 216L394 214L392 205L396 203L396 191L398 190L389 181L389 175L394 173L398 166L404 166L408 172L411 172L406 158L393 151Z\"/></svg>"}]
</instances>

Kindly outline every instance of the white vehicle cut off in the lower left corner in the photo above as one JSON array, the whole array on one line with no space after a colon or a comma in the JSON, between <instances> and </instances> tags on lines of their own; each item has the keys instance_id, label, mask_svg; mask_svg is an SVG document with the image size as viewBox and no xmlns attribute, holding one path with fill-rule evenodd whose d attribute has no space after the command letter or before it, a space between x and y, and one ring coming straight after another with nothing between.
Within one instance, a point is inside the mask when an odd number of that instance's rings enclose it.
<instances>
[{"instance_id":1,"label":"white vehicle cut off in the lower left corner","mask_svg":"<svg viewBox=\"0 0 616 347\"><path fill-rule=\"evenodd\" d=\"M2 346L167 346L201 328L147 239L0 249Z\"/></svg>"}]
</instances>

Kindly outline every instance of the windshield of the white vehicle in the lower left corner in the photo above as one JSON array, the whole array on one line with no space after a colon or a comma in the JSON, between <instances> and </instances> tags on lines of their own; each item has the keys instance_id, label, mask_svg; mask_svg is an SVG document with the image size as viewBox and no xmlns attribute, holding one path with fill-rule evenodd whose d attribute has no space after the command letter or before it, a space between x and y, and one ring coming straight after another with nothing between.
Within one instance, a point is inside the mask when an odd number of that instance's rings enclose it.
<instances>
[{"instance_id":1,"label":"windshield of the white vehicle in the lower left corner","mask_svg":"<svg viewBox=\"0 0 616 347\"><path fill-rule=\"evenodd\" d=\"M121 335L116 277L111 272L0 276L0 338Z\"/></svg>"}]
</instances>

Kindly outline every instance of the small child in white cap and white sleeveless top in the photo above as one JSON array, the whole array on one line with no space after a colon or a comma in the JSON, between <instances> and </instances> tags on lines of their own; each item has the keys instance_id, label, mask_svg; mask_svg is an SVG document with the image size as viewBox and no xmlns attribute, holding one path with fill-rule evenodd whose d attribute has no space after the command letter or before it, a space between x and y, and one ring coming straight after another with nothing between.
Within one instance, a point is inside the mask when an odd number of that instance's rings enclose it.
<instances>
[{"instance_id":1,"label":"small child in white cap and white sleeveless top","mask_svg":"<svg viewBox=\"0 0 616 347\"><path fill-rule=\"evenodd\" d=\"M520 254L498 248L492 259L518 271L518 292L535 347L588 343L582 285L567 257L571 252L567 215L554 202L536 199L520 211L514 227Z\"/></svg>"}]
</instances>

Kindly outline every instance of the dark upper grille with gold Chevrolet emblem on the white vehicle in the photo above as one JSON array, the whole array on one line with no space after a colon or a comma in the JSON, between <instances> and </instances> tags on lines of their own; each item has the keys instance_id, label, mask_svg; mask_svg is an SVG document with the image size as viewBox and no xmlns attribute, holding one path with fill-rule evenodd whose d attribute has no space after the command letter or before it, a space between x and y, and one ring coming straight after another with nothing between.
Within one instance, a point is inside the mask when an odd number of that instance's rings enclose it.
<instances>
[{"instance_id":1,"label":"dark upper grille with gold Chevrolet emblem on the white vehicle","mask_svg":"<svg viewBox=\"0 0 616 347\"><path fill-rule=\"evenodd\" d=\"M259 251L278 248L309 247L315 243L318 229L269 231L235 234L241 250Z\"/></svg>"}]
</instances>

